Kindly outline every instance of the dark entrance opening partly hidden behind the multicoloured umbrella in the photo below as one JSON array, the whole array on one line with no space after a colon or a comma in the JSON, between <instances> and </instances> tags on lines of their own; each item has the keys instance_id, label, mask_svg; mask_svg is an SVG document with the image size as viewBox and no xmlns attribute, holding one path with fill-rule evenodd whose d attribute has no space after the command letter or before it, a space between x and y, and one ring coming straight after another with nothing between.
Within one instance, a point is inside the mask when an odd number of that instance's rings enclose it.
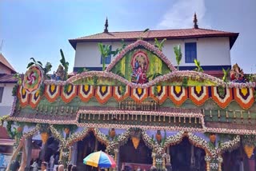
<instances>
[{"instance_id":1,"label":"dark entrance opening partly hidden behind the multicoloured umbrella","mask_svg":"<svg viewBox=\"0 0 256 171\"><path fill-rule=\"evenodd\" d=\"M101 142L97 141L94 133L90 132L86 137L83 138L82 141L78 141L78 157L77 157L77 166L78 170L98 170L97 168L91 167L90 165L84 165L82 163L83 159L88 156L90 153L95 151L102 150L105 152L106 145L102 144Z\"/></svg>"}]
</instances>

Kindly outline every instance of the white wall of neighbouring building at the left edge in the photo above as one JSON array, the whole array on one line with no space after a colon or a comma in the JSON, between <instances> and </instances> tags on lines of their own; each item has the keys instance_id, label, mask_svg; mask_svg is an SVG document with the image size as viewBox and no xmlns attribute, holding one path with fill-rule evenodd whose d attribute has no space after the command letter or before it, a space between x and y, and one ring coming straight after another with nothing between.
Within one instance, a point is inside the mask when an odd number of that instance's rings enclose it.
<instances>
[{"instance_id":1,"label":"white wall of neighbouring building at the left edge","mask_svg":"<svg viewBox=\"0 0 256 171\"><path fill-rule=\"evenodd\" d=\"M10 109L14 101L14 97L12 96L14 85L15 84L13 83L0 84L1 87L4 87L2 93L2 102L0 103L0 116L10 114Z\"/></svg>"}]
</instances>

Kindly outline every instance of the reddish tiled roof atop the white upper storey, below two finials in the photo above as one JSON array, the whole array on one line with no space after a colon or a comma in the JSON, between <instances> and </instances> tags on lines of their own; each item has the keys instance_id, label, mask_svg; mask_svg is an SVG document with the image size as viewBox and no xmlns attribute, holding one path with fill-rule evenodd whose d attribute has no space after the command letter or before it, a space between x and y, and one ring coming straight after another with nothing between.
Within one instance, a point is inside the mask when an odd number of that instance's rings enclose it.
<instances>
[{"instance_id":1,"label":"reddish tiled roof atop the white upper storey, below two finials","mask_svg":"<svg viewBox=\"0 0 256 171\"><path fill-rule=\"evenodd\" d=\"M143 34L143 31L125 31L125 32L109 32L93 34L81 38L70 39L70 44L76 48L77 42L103 42L103 41L133 41L138 38L144 40L152 40L154 38L209 38L209 37L230 37L230 48L233 46L238 33L219 31L219 30L207 30L207 29L180 29L180 30L150 30Z\"/></svg>"}]
</instances>

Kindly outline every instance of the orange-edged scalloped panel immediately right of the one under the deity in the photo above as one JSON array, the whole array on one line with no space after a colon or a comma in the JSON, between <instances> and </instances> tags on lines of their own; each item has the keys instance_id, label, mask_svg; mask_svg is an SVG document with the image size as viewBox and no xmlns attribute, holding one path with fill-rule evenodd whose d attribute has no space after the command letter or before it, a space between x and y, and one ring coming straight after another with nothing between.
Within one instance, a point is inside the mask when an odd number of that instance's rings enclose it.
<instances>
[{"instance_id":1,"label":"orange-edged scalloped panel immediately right of the one under the deity","mask_svg":"<svg viewBox=\"0 0 256 171\"><path fill-rule=\"evenodd\" d=\"M156 95L154 91L157 91ZM159 104L166 101L166 98L168 97L167 92L168 86L156 85L150 87L150 97L152 97L154 100L158 100Z\"/></svg>"}]
</instances>

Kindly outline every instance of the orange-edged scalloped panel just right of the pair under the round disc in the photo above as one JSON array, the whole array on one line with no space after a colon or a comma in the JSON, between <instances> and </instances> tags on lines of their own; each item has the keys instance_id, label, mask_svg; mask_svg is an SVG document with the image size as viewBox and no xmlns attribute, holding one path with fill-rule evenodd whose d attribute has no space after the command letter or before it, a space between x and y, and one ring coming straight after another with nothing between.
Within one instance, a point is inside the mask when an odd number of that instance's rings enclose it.
<instances>
[{"instance_id":1,"label":"orange-edged scalloped panel just right of the pair under the round disc","mask_svg":"<svg viewBox=\"0 0 256 171\"><path fill-rule=\"evenodd\" d=\"M54 102L60 95L60 85L46 85L45 97L48 101Z\"/></svg>"}]
</instances>

